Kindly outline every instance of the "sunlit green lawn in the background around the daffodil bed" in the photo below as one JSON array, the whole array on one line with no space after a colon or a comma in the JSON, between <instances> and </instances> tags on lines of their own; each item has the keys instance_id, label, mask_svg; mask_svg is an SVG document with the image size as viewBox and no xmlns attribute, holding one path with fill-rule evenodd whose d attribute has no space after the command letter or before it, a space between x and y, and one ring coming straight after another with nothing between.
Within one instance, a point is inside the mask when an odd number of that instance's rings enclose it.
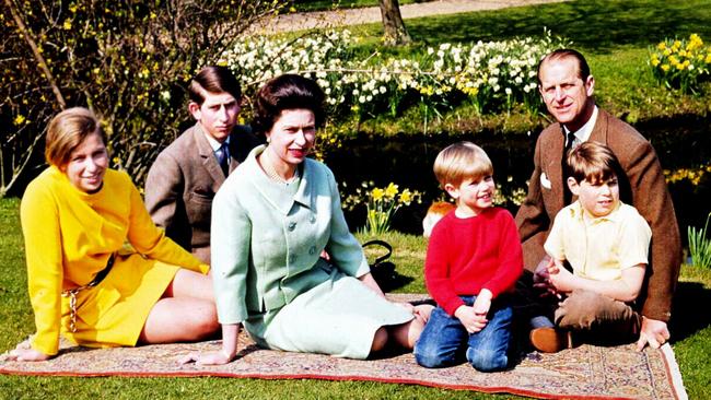
<instances>
[{"instance_id":1,"label":"sunlit green lawn in the background around the daffodil bed","mask_svg":"<svg viewBox=\"0 0 711 400\"><path fill-rule=\"evenodd\" d=\"M698 96L681 95L658 84L648 67L649 48L665 37L688 38L699 34L711 42L711 1L604 1L576 0L535 7L435 15L406 21L415 43L398 48L383 48L382 24L349 26L363 39L356 49L365 58L378 51L385 56L418 59L428 47L442 43L476 43L543 35L544 28L573 42L591 63L596 79L598 104L628 122L652 118L674 118L711 110L711 84ZM384 57L385 57L384 56ZM528 115L514 110L511 115L477 115L467 104L455 104L440 110L443 115L429 122L431 132L458 132L493 129L526 132L546 125L545 114ZM422 131L421 111L412 108L404 116L378 116L359 126L372 134L381 132ZM462 123L462 120L470 123ZM462 128L462 127L465 128Z\"/></svg>"}]
</instances>

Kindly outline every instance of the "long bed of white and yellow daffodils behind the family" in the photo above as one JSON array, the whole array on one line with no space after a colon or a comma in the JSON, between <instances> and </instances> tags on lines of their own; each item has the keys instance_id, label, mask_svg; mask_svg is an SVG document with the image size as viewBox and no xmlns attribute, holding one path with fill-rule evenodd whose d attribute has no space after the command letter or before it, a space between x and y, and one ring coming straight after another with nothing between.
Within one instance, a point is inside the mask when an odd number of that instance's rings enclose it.
<instances>
[{"instance_id":1,"label":"long bed of white and yellow daffodils behind the family","mask_svg":"<svg viewBox=\"0 0 711 400\"><path fill-rule=\"evenodd\" d=\"M552 49L569 45L545 31L540 38L442 44L409 58L358 57L359 38L349 31L287 39L253 36L223 54L226 64L252 91L280 73L315 79L336 119L360 119L424 105L435 113L471 102L479 113L510 110L515 104L537 113L536 67ZM248 113L248 110L247 110Z\"/></svg>"}]
</instances>

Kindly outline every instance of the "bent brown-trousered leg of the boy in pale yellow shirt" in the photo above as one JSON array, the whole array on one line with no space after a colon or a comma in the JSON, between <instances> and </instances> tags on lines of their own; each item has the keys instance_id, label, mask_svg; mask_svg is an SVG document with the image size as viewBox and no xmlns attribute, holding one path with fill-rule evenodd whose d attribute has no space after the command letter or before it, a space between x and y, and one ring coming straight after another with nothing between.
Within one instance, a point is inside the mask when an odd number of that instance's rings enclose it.
<instances>
[{"instance_id":1,"label":"bent brown-trousered leg of the boy in pale yellow shirt","mask_svg":"<svg viewBox=\"0 0 711 400\"><path fill-rule=\"evenodd\" d=\"M560 328L581 331L586 341L620 343L637 339L641 318L623 302L595 292L575 290L555 315Z\"/></svg>"}]
</instances>

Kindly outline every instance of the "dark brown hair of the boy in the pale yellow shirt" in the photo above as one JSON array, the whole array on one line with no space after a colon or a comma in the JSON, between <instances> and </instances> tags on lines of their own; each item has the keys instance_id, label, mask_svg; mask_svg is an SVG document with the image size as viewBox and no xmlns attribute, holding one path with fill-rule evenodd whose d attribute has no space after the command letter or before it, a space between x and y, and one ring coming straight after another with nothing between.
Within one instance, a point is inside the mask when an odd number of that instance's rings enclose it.
<instances>
[{"instance_id":1,"label":"dark brown hair of the boy in the pale yellow shirt","mask_svg":"<svg viewBox=\"0 0 711 400\"><path fill-rule=\"evenodd\" d=\"M566 162L570 176L579 184L586 180L597 185L614 176L622 176L622 167L613 150L598 142L581 143L568 153Z\"/></svg>"}]
</instances>

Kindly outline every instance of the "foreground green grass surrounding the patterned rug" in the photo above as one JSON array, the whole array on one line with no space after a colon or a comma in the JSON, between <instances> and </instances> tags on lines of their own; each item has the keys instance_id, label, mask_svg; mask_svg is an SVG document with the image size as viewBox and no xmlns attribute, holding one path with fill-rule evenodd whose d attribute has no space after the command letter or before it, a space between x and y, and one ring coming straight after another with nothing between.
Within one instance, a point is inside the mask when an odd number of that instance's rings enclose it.
<instances>
[{"instance_id":1,"label":"foreground green grass surrounding the patterned rug","mask_svg":"<svg viewBox=\"0 0 711 400\"><path fill-rule=\"evenodd\" d=\"M34 331L27 298L24 248L16 199L0 200L0 352L12 349ZM359 235L360 236L360 235ZM363 242L368 237L360 236ZM392 233L383 238L395 248L393 260L401 275L396 292L422 293L427 243L420 236ZM374 257L374 254L370 256ZM677 290L672 344L691 399L711 397L711 270L684 267ZM238 361L237 361L238 362ZM343 399L483 399L497 397L470 391L441 390L411 385L354 381L261 380L225 378L63 378L0 375L0 399L224 399L224 398L343 398ZM512 398L510 395L503 398Z\"/></svg>"}]
</instances>

